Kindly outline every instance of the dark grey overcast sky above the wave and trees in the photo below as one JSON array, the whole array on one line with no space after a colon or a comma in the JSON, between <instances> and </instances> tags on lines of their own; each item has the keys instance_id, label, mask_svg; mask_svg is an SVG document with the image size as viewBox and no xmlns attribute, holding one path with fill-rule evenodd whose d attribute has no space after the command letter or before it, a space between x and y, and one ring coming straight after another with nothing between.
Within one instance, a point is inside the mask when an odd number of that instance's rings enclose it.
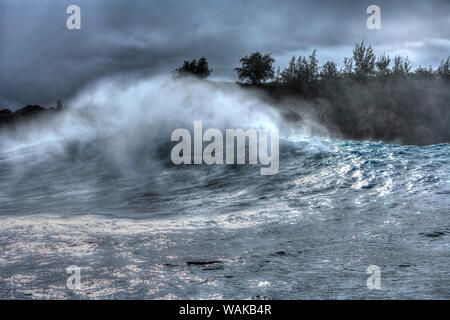
<instances>
[{"instance_id":1,"label":"dark grey overcast sky above the wave and trees","mask_svg":"<svg viewBox=\"0 0 450 320\"><path fill-rule=\"evenodd\" d=\"M71 4L81 30L66 27ZM366 27L371 4L381 30ZM53 105L105 76L167 74L201 56L213 79L232 81L239 58L256 50L282 69L314 48L321 64L341 64L361 40L436 67L450 55L450 1L0 0L0 109Z\"/></svg>"}]
</instances>

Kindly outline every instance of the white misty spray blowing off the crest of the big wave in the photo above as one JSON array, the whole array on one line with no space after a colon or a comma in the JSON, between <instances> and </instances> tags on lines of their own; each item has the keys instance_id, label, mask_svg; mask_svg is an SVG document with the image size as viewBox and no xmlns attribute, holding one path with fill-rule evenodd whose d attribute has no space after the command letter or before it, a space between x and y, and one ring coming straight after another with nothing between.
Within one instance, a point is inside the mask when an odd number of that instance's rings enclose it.
<instances>
[{"instance_id":1,"label":"white misty spray blowing off the crest of the big wave","mask_svg":"<svg viewBox=\"0 0 450 320\"><path fill-rule=\"evenodd\" d=\"M283 128L278 112L234 84L194 78L145 80L109 78L80 92L63 114L4 130L3 151L34 146L63 153L71 144L102 140L101 151L120 161L143 149L155 151L170 142L177 128ZM284 130L287 132L286 130ZM39 150L38 150L39 149Z\"/></svg>"}]
</instances>

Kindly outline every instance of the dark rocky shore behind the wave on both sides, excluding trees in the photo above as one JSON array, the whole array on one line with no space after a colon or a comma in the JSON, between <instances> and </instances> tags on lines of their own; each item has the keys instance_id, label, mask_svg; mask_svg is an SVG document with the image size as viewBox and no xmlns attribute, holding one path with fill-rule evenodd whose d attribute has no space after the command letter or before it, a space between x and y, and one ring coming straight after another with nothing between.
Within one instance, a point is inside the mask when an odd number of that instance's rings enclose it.
<instances>
[{"instance_id":1,"label":"dark rocky shore behind the wave on both sides, excluding trees","mask_svg":"<svg viewBox=\"0 0 450 320\"><path fill-rule=\"evenodd\" d=\"M222 89L234 83L209 82ZM240 85L279 110L285 120L301 127L312 121L325 128L313 135L354 141L375 141L400 145L450 143L449 82L439 79L395 81L351 80L322 82L314 94L269 83ZM16 111L0 110L0 130L47 119L63 112L56 107L27 105ZM45 123L42 123L45 125Z\"/></svg>"}]
</instances>

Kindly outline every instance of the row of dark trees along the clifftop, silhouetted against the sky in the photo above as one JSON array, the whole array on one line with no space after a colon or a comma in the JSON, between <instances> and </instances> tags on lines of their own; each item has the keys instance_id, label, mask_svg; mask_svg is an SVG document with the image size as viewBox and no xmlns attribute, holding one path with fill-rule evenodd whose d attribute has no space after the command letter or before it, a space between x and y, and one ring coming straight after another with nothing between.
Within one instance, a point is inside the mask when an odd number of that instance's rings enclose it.
<instances>
[{"instance_id":1,"label":"row of dark trees along the clifftop, silhouetted against the sky","mask_svg":"<svg viewBox=\"0 0 450 320\"><path fill-rule=\"evenodd\" d=\"M404 79L433 78L440 77L450 79L450 56L443 59L436 70L432 66L419 66L413 70L408 57L396 55L391 58L383 53L376 57L372 45L365 45L364 42L356 43L352 57L344 58L342 67L333 61L326 61L319 65L317 52L309 56L293 56L289 65L277 71L274 70L275 59L270 53L262 54L253 52L240 59L240 66L234 71L240 83L261 85L277 84L299 92L308 93L316 89L320 82L332 82L339 79L352 79L364 82L369 79ZM198 61L184 61L184 64L175 69L175 76L193 75L200 78L207 78L213 70L208 67L208 61L202 57Z\"/></svg>"}]
</instances>

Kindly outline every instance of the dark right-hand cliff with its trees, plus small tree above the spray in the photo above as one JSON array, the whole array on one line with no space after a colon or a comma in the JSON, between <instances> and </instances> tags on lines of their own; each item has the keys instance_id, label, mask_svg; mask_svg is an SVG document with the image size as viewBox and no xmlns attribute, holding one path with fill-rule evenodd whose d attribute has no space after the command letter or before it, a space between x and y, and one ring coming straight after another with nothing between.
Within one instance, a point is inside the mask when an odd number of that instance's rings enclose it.
<instances>
[{"instance_id":1,"label":"dark right-hand cliff with its trees, plus small tree above the spray","mask_svg":"<svg viewBox=\"0 0 450 320\"><path fill-rule=\"evenodd\" d=\"M201 61L201 68L196 60L185 62L175 76L207 78L212 70L206 58ZM450 57L436 69L413 70L407 57L377 57L360 42L340 68L333 61L319 65L316 50L292 57L284 70L275 71L274 63L269 53L254 52L234 71L238 83L260 88L293 121L312 118L345 139L450 142Z\"/></svg>"}]
</instances>

